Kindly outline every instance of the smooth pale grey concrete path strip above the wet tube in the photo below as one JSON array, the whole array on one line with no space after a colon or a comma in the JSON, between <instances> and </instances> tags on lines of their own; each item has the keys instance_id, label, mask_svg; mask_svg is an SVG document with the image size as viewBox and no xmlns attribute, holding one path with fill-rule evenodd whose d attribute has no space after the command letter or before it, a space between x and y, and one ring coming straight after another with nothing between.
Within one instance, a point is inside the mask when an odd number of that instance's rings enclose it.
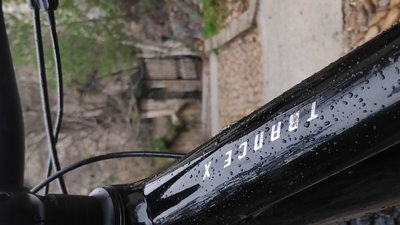
<instances>
[{"instance_id":1,"label":"smooth pale grey concrete path strip above the wet tube","mask_svg":"<svg viewBox=\"0 0 400 225\"><path fill-rule=\"evenodd\" d=\"M342 54L342 1L261 0L257 25L266 102Z\"/></svg>"}]
</instances>

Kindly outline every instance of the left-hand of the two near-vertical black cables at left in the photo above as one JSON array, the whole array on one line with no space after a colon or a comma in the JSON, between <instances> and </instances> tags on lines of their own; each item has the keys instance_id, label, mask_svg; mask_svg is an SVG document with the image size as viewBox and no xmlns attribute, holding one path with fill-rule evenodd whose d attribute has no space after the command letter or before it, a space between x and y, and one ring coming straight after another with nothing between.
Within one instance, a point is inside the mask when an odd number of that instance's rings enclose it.
<instances>
[{"instance_id":1,"label":"left-hand of the two near-vertical black cables at left","mask_svg":"<svg viewBox=\"0 0 400 225\"><path fill-rule=\"evenodd\" d=\"M41 26L40 26L40 15L39 9L33 8L33 20L34 20L34 33L35 33L35 43L36 43L36 54L38 60L38 70L39 70L39 81L40 81L40 94L42 98L42 108L44 114L44 123L47 134L47 141L49 144L50 154L52 158L52 164L55 168L55 171L60 170L60 162L58 160L56 143L53 135L53 127L51 121L51 113L50 113L50 104L48 98L47 91L47 80L46 80L46 71L45 71L45 63L43 56L43 43L42 43L42 34L41 34ZM60 191L63 194L67 194L67 188L65 186L65 182L63 177L58 177L58 184L60 187Z\"/></svg>"}]
</instances>

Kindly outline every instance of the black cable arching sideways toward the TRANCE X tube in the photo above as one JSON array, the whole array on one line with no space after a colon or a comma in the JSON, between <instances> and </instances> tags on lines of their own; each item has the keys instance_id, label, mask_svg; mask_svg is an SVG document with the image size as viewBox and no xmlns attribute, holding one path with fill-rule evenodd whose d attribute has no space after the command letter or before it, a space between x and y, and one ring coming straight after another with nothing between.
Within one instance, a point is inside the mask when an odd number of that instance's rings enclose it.
<instances>
[{"instance_id":1,"label":"black cable arching sideways toward the TRANCE X tube","mask_svg":"<svg viewBox=\"0 0 400 225\"><path fill-rule=\"evenodd\" d=\"M175 158L175 159L180 159L184 156L185 154L180 154L180 153L164 153L164 152L148 152L148 151L130 151L130 152L115 152L115 153L110 153L110 154L105 154L105 155L100 155L100 156L95 156L92 158L84 159L82 161L76 162L74 164L71 164L67 167L64 167L62 170L54 173L50 177L48 177L46 180L42 181L40 184L36 185L34 188L31 189L31 192L33 194L36 194L40 189L48 185L50 182L53 180L61 177L62 175L75 170L79 167L107 160L107 159L116 159L116 158L128 158L128 157L158 157L158 158Z\"/></svg>"}]
</instances>

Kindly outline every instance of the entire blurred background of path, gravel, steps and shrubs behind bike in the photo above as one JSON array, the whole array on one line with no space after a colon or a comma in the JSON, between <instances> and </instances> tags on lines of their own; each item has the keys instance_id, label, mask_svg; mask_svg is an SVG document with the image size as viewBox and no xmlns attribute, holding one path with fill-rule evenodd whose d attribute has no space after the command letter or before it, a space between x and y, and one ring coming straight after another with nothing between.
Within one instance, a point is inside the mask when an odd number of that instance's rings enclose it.
<instances>
[{"instance_id":1,"label":"entire blurred background of path, gravel, steps and shrubs behind bike","mask_svg":"<svg viewBox=\"0 0 400 225\"><path fill-rule=\"evenodd\" d=\"M61 164L118 151L188 153L393 25L399 7L399 0L60 1ZM32 187L44 178L48 159L32 16L17 0L3 0L3 10L24 110L26 185ZM55 113L45 17L42 24ZM88 194L152 176L172 162L111 160L65 179L70 193ZM343 224L400 224L400 214L390 208Z\"/></svg>"}]
</instances>

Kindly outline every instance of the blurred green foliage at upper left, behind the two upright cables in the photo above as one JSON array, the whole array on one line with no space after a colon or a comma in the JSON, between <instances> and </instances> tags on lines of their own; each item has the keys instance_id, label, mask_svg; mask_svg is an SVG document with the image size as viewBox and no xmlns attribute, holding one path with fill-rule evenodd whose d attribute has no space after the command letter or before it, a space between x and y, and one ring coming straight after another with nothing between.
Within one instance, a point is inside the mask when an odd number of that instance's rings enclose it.
<instances>
[{"instance_id":1,"label":"blurred green foliage at upper left, behind the two upright cables","mask_svg":"<svg viewBox=\"0 0 400 225\"><path fill-rule=\"evenodd\" d=\"M32 16L25 2L4 0L14 63L36 65ZM56 14L58 41L65 86L84 87L94 78L107 79L112 73L133 71L135 38L127 31L127 14L114 0L60 1ZM42 16L49 83L55 77L47 18Z\"/></svg>"}]
</instances>

